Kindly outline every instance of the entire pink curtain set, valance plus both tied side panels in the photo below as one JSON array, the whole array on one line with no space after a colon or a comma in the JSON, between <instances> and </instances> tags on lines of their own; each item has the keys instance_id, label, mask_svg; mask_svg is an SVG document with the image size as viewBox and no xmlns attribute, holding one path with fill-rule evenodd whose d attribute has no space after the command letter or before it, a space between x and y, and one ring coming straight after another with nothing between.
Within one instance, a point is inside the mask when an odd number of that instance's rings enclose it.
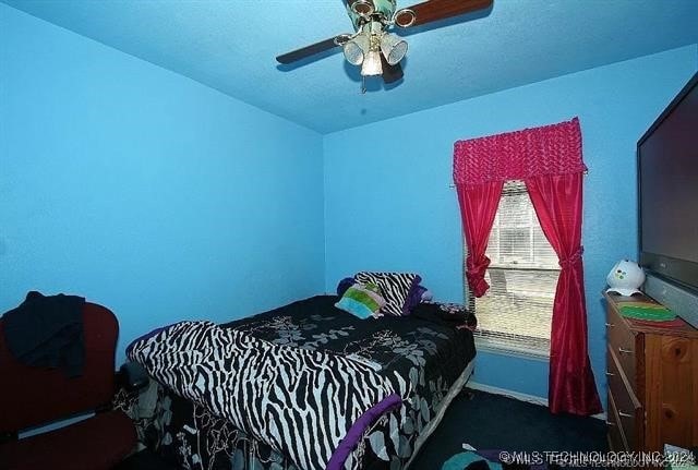
<instances>
[{"instance_id":1,"label":"entire pink curtain set, valance plus both tied side panels","mask_svg":"<svg viewBox=\"0 0 698 470\"><path fill-rule=\"evenodd\" d=\"M456 142L454 181L462 218L468 286L488 289L484 255L504 181L526 181L561 275L551 332L549 402L553 412L594 414L601 402L587 347L581 261L581 132L579 120Z\"/></svg>"}]
</instances>

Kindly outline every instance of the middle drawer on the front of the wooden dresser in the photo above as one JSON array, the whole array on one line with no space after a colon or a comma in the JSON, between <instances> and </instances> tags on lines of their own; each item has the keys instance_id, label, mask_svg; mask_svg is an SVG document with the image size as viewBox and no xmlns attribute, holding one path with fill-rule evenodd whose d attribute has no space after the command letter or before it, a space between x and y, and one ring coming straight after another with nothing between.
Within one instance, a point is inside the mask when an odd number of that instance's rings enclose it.
<instances>
[{"instance_id":1,"label":"middle drawer on the front of the wooden dresser","mask_svg":"<svg viewBox=\"0 0 698 470\"><path fill-rule=\"evenodd\" d=\"M622 429L625 443L630 450L639 447L640 425L645 413L635 391L628 384L627 377L621 370L618 357L609 345L606 351L606 376L609 379L609 401L613 401L616 423Z\"/></svg>"}]
</instances>

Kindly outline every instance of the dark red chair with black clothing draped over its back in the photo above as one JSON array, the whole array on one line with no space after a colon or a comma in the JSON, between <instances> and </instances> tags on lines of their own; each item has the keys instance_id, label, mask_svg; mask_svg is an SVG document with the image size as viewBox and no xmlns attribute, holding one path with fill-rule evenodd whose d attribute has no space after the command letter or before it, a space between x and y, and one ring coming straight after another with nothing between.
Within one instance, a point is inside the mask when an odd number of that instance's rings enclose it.
<instances>
[{"instance_id":1,"label":"dark red chair with black clothing draped over its back","mask_svg":"<svg viewBox=\"0 0 698 470\"><path fill-rule=\"evenodd\" d=\"M110 407L117 318L108 309L86 302L83 326L83 374L69 378L60 370L17 362L8 350L0 318L0 468L107 470L134 449L133 422ZM95 415L17 438L20 431L89 411Z\"/></svg>"}]
</instances>

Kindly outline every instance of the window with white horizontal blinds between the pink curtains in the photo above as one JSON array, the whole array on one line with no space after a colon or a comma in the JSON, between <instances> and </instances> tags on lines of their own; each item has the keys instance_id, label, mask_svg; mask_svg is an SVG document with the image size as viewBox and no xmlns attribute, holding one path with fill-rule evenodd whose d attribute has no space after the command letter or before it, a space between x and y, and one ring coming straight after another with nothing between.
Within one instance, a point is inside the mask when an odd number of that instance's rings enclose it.
<instances>
[{"instance_id":1,"label":"window with white horizontal blinds between the pink curtains","mask_svg":"<svg viewBox=\"0 0 698 470\"><path fill-rule=\"evenodd\" d=\"M480 299L476 337L484 347L549 357L559 265L522 181L504 184L486 251L492 261Z\"/></svg>"}]
</instances>

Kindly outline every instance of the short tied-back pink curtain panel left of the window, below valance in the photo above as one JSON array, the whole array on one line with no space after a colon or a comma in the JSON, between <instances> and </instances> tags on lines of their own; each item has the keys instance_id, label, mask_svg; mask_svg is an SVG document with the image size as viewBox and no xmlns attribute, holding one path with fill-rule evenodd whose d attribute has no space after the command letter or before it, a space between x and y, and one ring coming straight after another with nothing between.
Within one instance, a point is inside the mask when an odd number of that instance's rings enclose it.
<instances>
[{"instance_id":1,"label":"short tied-back pink curtain panel left of the window, below valance","mask_svg":"<svg viewBox=\"0 0 698 470\"><path fill-rule=\"evenodd\" d=\"M466 257L466 277L474 297L482 297L490 288L484 273L490 258L484 255L488 240L497 213L504 181L490 181L477 186L459 184L458 203L462 214L462 231L466 234L468 256Z\"/></svg>"}]
</instances>

